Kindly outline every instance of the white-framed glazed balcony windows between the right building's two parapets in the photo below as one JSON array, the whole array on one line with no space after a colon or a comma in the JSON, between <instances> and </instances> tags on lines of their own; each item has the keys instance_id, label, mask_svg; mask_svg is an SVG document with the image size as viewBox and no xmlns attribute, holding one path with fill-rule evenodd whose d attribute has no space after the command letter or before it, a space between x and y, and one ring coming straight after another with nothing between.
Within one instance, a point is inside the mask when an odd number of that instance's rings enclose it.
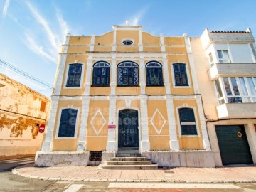
<instances>
[{"instance_id":1,"label":"white-framed glazed balcony windows between the right building's two parapets","mask_svg":"<svg viewBox=\"0 0 256 192\"><path fill-rule=\"evenodd\" d=\"M220 104L224 102L256 102L255 77L224 77L215 80L215 85ZM221 87L223 87L223 89L221 89ZM222 90L225 94L223 94Z\"/></svg>"}]
</instances>

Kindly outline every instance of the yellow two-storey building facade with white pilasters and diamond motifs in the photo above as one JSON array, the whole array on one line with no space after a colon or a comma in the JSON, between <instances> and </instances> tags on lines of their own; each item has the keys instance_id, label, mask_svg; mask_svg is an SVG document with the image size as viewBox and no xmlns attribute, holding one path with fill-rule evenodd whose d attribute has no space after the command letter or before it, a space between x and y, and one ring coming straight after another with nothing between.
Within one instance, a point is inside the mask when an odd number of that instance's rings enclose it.
<instances>
[{"instance_id":1,"label":"yellow two-storey building facade with white pilasters and diamond motifs","mask_svg":"<svg viewBox=\"0 0 256 192\"><path fill-rule=\"evenodd\" d=\"M60 53L36 166L82 166L136 151L159 166L214 167L191 41L113 26Z\"/></svg>"}]
</instances>

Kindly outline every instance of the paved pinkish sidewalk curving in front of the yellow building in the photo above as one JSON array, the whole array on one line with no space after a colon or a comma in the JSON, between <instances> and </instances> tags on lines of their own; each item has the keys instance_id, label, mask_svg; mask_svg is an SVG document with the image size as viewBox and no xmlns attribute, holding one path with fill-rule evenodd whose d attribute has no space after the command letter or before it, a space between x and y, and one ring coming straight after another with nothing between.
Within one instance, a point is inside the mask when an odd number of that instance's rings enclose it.
<instances>
[{"instance_id":1,"label":"paved pinkish sidewalk curving in front of the yellow building","mask_svg":"<svg viewBox=\"0 0 256 192\"><path fill-rule=\"evenodd\" d=\"M172 168L156 170L103 170L97 166L33 167L12 171L28 178L62 181L244 183L256 182L256 166Z\"/></svg>"}]
</instances>

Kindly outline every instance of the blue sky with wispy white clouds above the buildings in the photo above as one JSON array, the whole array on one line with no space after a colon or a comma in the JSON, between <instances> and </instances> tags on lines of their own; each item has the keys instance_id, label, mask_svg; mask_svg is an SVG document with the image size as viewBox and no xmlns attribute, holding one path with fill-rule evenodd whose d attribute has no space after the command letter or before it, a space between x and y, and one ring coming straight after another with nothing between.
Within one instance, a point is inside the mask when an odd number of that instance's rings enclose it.
<instances>
[{"instance_id":1,"label":"blue sky with wispy white clouds above the buildings","mask_svg":"<svg viewBox=\"0 0 256 192\"><path fill-rule=\"evenodd\" d=\"M112 25L142 25L159 36L201 36L213 31L256 34L255 0L0 0L0 58L53 85L60 45L66 33L101 35ZM256 36L256 35L255 35ZM6 70L0 73L50 96L51 90Z\"/></svg>"}]
</instances>

